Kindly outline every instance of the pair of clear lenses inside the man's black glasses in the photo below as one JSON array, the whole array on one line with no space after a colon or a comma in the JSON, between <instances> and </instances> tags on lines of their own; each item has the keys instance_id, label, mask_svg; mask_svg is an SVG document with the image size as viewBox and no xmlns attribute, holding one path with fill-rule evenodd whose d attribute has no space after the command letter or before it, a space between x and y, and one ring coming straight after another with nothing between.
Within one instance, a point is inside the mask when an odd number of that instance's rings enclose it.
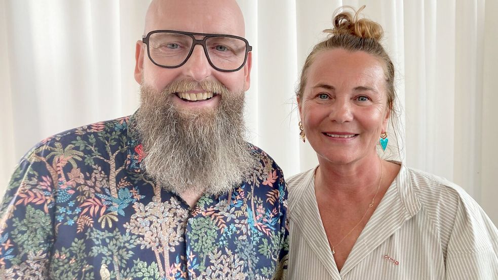
<instances>
[{"instance_id":1,"label":"pair of clear lenses inside the man's black glasses","mask_svg":"<svg viewBox=\"0 0 498 280\"><path fill-rule=\"evenodd\" d=\"M193 44L192 37L170 32L152 33L149 37L150 57L157 64L174 67L182 64ZM223 70L239 68L245 60L246 43L232 37L209 37L206 50L211 63Z\"/></svg>"}]
</instances>

